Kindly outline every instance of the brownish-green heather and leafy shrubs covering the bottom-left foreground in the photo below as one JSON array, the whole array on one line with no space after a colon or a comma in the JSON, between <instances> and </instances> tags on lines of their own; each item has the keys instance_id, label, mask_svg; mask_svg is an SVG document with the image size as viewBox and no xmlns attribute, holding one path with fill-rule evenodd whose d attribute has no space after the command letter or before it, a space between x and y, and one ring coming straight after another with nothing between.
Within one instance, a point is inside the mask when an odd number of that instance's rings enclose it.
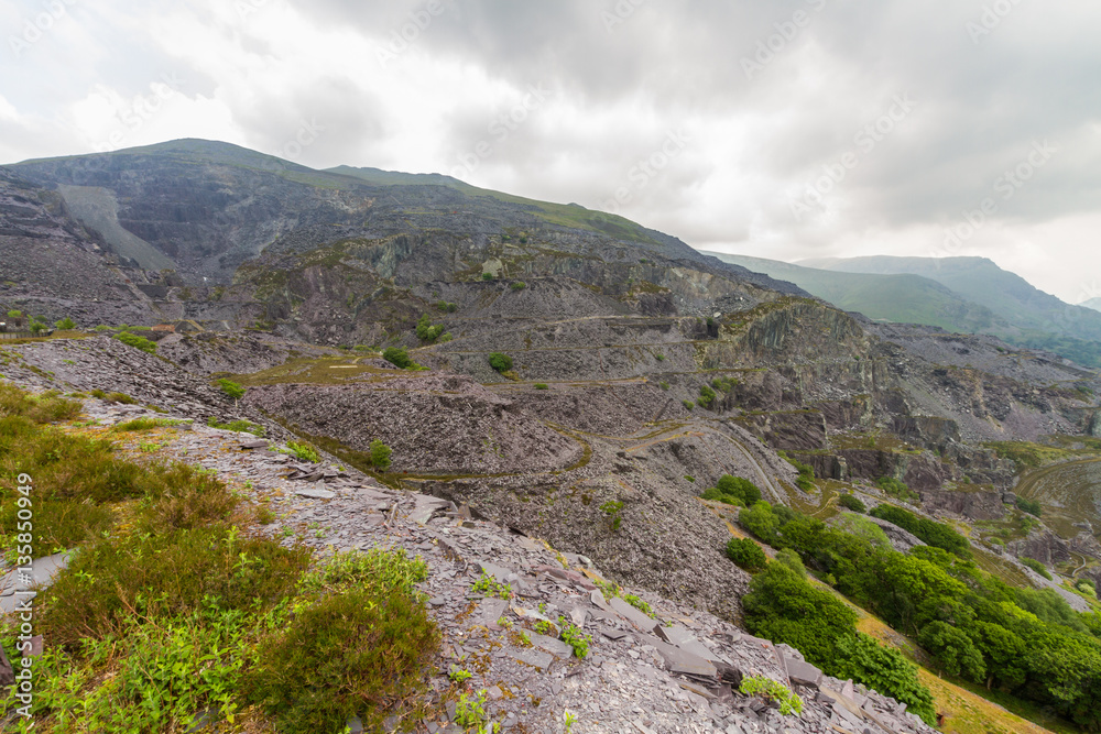
<instances>
[{"instance_id":1,"label":"brownish-green heather and leafy shrubs covering the bottom-left foreground","mask_svg":"<svg viewBox=\"0 0 1101 734\"><path fill-rule=\"evenodd\" d=\"M375 549L319 562L284 548L209 473L139 465L47 425L79 409L0 385L4 547L25 473L34 555L75 548L35 600L34 717L6 731L184 732L204 715L290 734L359 716L381 731L419 709L439 644L414 585L423 560ZM17 635L14 622L0 631L9 658ZM21 705L0 700L0 717Z\"/></svg>"}]
</instances>

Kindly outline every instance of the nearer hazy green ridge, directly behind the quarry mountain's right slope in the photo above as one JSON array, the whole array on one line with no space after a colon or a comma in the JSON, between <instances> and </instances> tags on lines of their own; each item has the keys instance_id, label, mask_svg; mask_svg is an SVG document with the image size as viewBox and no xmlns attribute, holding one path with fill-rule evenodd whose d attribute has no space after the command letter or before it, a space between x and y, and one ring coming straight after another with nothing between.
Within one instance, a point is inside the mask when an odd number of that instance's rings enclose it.
<instances>
[{"instance_id":1,"label":"nearer hazy green ridge, directly behind the quarry mountain's right slope","mask_svg":"<svg viewBox=\"0 0 1101 734\"><path fill-rule=\"evenodd\" d=\"M920 275L868 275L803 267L777 260L718 252L705 254L722 262L788 281L839 308L870 319L895 324L924 324L949 331L984 333L1009 330L1010 325L985 306L960 297Z\"/></svg>"}]
</instances>

